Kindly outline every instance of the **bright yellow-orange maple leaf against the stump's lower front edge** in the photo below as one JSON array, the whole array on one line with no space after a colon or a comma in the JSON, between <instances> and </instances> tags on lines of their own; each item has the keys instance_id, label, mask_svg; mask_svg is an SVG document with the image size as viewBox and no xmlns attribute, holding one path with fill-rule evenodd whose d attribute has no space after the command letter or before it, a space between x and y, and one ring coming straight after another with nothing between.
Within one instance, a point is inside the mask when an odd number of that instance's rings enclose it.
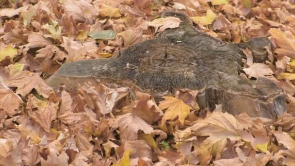
<instances>
[{"instance_id":1,"label":"bright yellow-orange maple leaf against the stump's lower front edge","mask_svg":"<svg viewBox=\"0 0 295 166\"><path fill-rule=\"evenodd\" d=\"M180 123L183 125L184 119L192 109L186 105L182 100L174 97L164 97L165 100L160 102L159 108L164 110L167 108L163 120L174 119L178 116Z\"/></svg>"}]
</instances>

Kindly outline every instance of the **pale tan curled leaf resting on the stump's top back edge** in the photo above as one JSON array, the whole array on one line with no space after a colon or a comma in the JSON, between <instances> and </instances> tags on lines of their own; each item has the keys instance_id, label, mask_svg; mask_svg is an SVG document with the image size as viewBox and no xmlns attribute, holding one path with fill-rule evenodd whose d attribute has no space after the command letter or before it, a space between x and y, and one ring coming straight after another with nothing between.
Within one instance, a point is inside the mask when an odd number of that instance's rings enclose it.
<instances>
[{"instance_id":1,"label":"pale tan curled leaf resting on the stump's top back edge","mask_svg":"<svg viewBox=\"0 0 295 166\"><path fill-rule=\"evenodd\" d=\"M156 32L162 32L167 28L177 28L181 20L178 17L157 18L148 23L148 26L153 26ZM160 28L159 28L160 27Z\"/></svg>"}]
</instances>

